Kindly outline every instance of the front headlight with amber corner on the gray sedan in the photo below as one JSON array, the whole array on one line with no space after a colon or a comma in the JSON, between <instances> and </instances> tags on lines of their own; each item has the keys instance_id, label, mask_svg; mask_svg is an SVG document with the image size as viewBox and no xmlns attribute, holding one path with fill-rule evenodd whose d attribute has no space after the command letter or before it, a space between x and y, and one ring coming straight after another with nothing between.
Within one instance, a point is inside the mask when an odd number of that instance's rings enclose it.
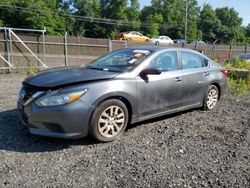
<instances>
[{"instance_id":1,"label":"front headlight with amber corner on the gray sedan","mask_svg":"<svg viewBox=\"0 0 250 188\"><path fill-rule=\"evenodd\" d=\"M38 99L36 101L36 104L39 107L70 104L76 101L77 99L79 99L86 92L87 92L87 89L84 89L83 91L72 91L72 92L67 92L67 93L54 92L54 93L45 95L42 98Z\"/></svg>"}]
</instances>

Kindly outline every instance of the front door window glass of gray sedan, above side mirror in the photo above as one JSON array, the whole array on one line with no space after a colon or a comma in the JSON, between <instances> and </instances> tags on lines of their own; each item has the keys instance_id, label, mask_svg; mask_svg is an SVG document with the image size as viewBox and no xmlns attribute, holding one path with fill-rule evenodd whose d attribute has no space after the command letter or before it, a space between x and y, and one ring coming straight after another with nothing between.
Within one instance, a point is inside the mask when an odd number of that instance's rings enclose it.
<instances>
[{"instance_id":1,"label":"front door window glass of gray sedan, above side mirror","mask_svg":"<svg viewBox=\"0 0 250 188\"><path fill-rule=\"evenodd\" d=\"M158 68L161 71L178 70L177 53L163 52L150 62L149 67Z\"/></svg>"}]
</instances>

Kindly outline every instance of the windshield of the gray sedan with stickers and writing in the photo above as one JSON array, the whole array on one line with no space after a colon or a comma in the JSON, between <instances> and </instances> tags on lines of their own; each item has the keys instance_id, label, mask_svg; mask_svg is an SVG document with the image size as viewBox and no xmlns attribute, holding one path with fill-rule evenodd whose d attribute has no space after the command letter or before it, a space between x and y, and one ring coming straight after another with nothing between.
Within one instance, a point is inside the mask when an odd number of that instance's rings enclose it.
<instances>
[{"instance_id":1,"label":"windshield of the gray sedan with stickers and writing","mask_svg":"<svg viewBox=\"0 0 250 188\"><path fill-rule=\"evenodd\" d=\"M109 53L87 66L103 71L126 72L133 69L152 52L142 49L122 49Z\"/></svg>"}]
</instances>

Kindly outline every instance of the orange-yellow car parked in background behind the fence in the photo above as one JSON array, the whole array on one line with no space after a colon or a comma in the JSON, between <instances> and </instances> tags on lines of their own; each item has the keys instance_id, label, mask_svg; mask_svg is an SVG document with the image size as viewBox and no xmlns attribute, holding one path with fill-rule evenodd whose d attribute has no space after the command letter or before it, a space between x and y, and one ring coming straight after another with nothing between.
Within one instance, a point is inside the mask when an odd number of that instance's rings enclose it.
<instances>
[{"instance_id":1,"label":"orange-yellow car parked in background behind the fence","mask_svg":"<svg viewBox=\"0 0 250 188\"><path fill-rule=\"evenodd\" d=\"M116 37L119 40L148 41L150 38L138 31L128 31L119 33Z\"/></svg>"}]
</instances>

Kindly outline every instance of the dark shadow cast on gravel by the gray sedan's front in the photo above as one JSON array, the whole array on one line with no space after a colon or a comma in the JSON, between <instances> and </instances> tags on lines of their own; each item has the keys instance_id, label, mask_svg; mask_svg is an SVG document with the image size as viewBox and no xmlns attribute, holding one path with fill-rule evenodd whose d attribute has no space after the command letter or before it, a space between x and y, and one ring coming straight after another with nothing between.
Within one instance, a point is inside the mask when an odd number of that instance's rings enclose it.
<instances>
[{"instance_id":1,"label":"dark shadow cast on gravel by the gray sedan's front","mask_svg":"<svg viewBox=\"0 0 250 188\"><path fill-rule=\"evenodd\" d=\"M89 138L65 140L33 136L21 125L16 109L0 112L0 151L50 152L73 145L93 144L97 143Z\"/></svg>"}]
</instances>

